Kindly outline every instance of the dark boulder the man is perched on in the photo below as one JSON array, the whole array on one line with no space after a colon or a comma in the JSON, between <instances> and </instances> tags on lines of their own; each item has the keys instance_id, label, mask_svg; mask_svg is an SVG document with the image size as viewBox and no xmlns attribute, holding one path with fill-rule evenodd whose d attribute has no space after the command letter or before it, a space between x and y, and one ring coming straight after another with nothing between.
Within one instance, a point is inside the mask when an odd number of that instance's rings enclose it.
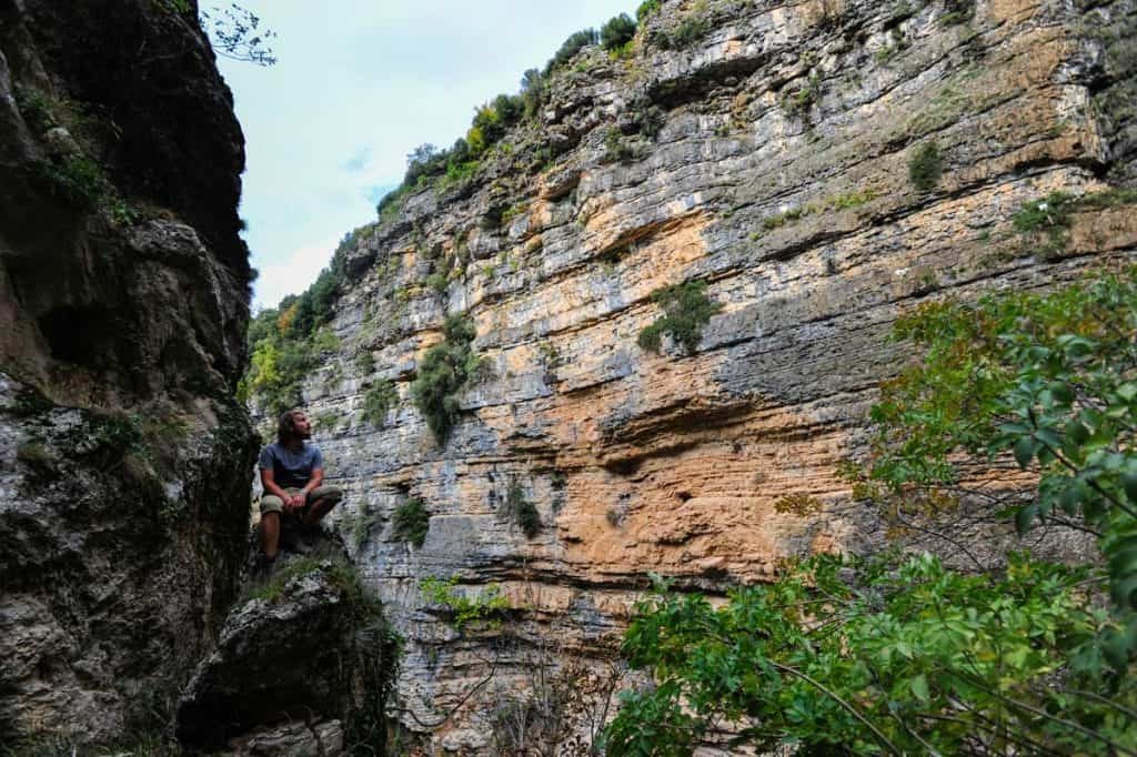
<instances>
[{"instance_id":1,"label":"dark boulder the man is perched on","mask_svg":"<svg viewBox=\"0 0 1137 757\"><path fill-rule=\"evenodd\" d=\"M341 563L293 558L279 569L234 608L190 680L179 741L210 754L331 757L343 751L346 725L349 747L381 746L392 647L377 608Z\"/></svg>"}]
</instances>

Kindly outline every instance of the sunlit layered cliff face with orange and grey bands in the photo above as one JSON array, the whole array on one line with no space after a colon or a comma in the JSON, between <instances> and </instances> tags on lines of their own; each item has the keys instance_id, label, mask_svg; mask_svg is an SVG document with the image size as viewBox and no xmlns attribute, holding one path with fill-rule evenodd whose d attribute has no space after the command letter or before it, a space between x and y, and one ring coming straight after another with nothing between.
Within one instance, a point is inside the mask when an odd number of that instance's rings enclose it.
<instances>
[{"instance_id":1,"label":"sunlit layered cliff face with orange and grey bands","mask_svg":"<svg viewBox=\"0 0 1137 757\"><path fill-rule=\"evenodd\" d=\"M337 524L407 638L404 725L493 751L501 692L571 658L588 688L647 572L722 590L878 543L836 467L905 358L886 341L897 314L1137 250L1131 206L1079 214L1061 249L1011 223L1137 176L1135 7L664 2L630 59L590 49L557 74L540 123L474 180L363 234L341 346L305 399L348 491ZM930 145L943 175L920 190L910 163ZM446 271L445 291L425 285ZM722 305L694 353L638 347L652 292L692 280ZM409 386L459 311L492 375L440 444ZM399 402L376 424L363 401L381 380ZM537 535L507 516L511 489ZM775 508L791 494L821 513ZM421 548L391 523L412 497ZM500 583L509 622L459 633L420 590L431 575Z\"/></svg>"}]
</instances>

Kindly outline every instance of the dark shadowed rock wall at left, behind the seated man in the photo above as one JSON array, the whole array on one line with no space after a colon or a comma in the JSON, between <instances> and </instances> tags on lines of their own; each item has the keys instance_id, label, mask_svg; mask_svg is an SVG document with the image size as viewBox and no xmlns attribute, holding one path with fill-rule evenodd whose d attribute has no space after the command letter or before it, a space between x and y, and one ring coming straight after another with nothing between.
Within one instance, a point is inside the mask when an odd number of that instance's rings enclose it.
<instances>
[{"instance_id":1,"label":"dark shadowed rock wall at left, behind the seated man","mask_svg":"<svg viewBox=\"0 0 1137 757\"><path fill-rule=\"evenodd\" d=\"M243 140L181 5L0 1L3 747L152 726L235 590Z\"/></svg>"}]
</instances>

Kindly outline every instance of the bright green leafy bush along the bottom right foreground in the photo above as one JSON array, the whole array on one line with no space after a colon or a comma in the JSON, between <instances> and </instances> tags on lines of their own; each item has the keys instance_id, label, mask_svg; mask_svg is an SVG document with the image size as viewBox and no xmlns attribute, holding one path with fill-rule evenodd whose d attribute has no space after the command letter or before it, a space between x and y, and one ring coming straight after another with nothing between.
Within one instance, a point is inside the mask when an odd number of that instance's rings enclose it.
<instances>
[{"instance_id":1,"label":"bright green leafy bush along the bottom right foreground","mask_svg":"<svg viewBox=\"0 0 1137 757\"><path fill-rule=\"evenodd\" d=\"M1085 577L1023 556L999 575L816 556L719 609L657 587L624 642L656 685L624 694L607 754L690 755L716 723L758 752L1131 750L1131 681L1055 675L1102 623Z\"/></svg>"}]
</instances>

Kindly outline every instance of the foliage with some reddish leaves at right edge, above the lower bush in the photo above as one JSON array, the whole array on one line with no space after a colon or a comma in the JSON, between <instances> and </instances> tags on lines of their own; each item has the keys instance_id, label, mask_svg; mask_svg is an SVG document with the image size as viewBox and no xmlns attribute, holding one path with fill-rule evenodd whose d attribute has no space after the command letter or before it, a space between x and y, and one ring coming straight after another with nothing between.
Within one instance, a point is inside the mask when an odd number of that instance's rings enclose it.
<instances>
[{"instance_id":1,"label":"foliage with some reddish leaves at right edge, above the lower bush","mask_svg":"<svg viewBox=\"0 0 1137 757\"><path fill-rule=\"evenodd\" d=\"M1099 534L1137 650L1137 273L926 306L896 333L927 353L882 386L866 493L954 484L957 452L1012 454L1039 477L1020 531L1077 516Z\"/></svg>"}]
</instances>

